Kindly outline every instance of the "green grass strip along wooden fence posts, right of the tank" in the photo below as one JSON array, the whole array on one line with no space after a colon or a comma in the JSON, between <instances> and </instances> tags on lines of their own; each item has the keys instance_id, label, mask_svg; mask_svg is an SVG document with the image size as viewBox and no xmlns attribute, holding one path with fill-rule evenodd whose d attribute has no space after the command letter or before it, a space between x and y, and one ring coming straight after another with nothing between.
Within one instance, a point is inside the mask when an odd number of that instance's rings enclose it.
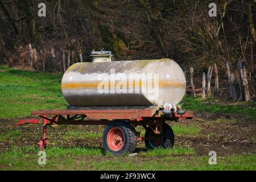
<instances>
[{"instance_id":1,"label":"green grass strip along wooden fence posts, right of the tank","mask_svg":"<svg viewBox=\"0 0 256 182\"><path fill-rule=\"evenodd\" d=\"M247 117L256 119L255 102L237 102L235 105L233 101L225 101L224 104L214 102L214 98L203 99L200 97L184 97L181 101L183 108L193 111L206 111L209 113L228 113L241 114Z\"/></svg>"}]
</instances>

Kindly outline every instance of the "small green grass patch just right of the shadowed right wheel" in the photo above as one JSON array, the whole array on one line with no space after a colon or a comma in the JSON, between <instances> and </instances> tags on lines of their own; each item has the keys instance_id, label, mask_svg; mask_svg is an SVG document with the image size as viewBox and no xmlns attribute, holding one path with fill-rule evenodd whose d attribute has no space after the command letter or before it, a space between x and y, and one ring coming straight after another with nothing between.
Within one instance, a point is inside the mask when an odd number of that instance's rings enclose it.
<instances>
[{"instance_id":1,"label":"small green grass patch just right of the shadowed right wheel","mask_svg":"<svg viewBox=\"0 0 256 182\"><path fill-rule=\"evenodd\" d=\"M175 135L179 136L188 136L193 135L196 136L202 130L200 127L189 125L172 125L172 130L174 130Z\"/></svg>"}]
</instances>

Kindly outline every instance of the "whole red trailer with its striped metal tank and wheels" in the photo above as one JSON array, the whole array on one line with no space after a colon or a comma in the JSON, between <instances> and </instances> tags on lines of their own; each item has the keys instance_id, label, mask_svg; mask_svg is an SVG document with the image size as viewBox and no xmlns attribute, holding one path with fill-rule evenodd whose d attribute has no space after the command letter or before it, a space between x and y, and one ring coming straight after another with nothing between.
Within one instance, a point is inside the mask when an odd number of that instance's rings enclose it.
<instances>
[{"instance_id":1,"label":"whole red trailer with its striped metal tank and wheels","mask_svg":"<svg viewBox=\"0 0 256 182\"><path fill-rule=\"evenodd\" d=\"M193 118L193 111L177 106L186 88L179 65L171 59L112 61L110 51L91 56L92 62L73 64L63 75L67 109L32 111L39 119L16 125L42 124L41 150L50 125L106 125L104 147L117 156L134 152L138 140L150 149L173 147L174 132L166 121ZM144 136L135 130L139 125Z\"/></svg>"}]
</instances>

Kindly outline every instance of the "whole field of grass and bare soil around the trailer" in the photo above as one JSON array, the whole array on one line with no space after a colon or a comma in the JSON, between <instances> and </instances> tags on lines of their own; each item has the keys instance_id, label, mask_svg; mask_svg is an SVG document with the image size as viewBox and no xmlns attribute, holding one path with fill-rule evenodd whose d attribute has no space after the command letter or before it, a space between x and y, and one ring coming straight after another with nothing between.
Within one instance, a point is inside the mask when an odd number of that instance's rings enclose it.
<instances>
[{"instance_id":1,"label":"whole field of grass and bare soil around the trailer","mask_svg":"<svg viewBox=\"0 0 256 182\"><path fill-rule=\"evenodd\" d=\"M65 109L61 74L20 71L0 66L1 170L255 170L255 102L185 97L183 108L194 110L193 121L168 122L175 133L172 149L147 150L115 157L105 152L102 126L49 127L47 163L38 164L40 125L13 126L32 110ZM138 127L138 131L143 131ZM143 133L143 132L142 132ZM217 152L217 164L208 153Z\"/></svg>"}]
</instances>

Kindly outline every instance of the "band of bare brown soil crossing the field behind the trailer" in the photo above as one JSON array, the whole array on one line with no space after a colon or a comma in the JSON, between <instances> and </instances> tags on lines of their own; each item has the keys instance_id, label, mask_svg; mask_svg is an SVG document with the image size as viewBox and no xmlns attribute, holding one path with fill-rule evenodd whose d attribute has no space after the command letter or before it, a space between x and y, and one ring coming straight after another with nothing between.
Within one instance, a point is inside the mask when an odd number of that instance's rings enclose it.
<instances>
[{"instance_id":1,"label":"band of bare brown soil crossing the field behind the trailer","mask_svg":"<svg viewBox=\"0 0 256 182\"><path fill-rule=\"evenodd\" d=\"M42 137L42 125L13 126L15 122L0 119L0 133L8 134L13 130L20 130L18 138L11 138L5 142L0 141L0 152L9 151L13 146L38 146ZM196 113L195 118L179 122L168 122L170 125L193 125L200 127L199 134L176 135L175 146L195 148L196 155L205 156L209 151L216 151L220 156L233 154L256 155L256 121L236 114L210 114ZM56 126L48 127L49 146L81 146L103 147L100 137L85 137L82 139L64 140L63 135L68 130L101 132L104 126ZM138 142L137 151L146 150L144 142Z\"/></svg>"}]
</instances>

